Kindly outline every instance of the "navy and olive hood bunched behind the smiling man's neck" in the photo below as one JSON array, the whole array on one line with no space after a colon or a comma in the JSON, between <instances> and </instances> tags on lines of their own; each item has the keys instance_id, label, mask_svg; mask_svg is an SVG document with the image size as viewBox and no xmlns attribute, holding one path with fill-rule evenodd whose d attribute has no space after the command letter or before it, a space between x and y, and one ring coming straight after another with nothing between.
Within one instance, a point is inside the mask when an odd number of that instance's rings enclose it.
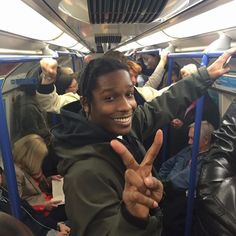
<instances>
[{"instance_id":1,"label":"navy and olive hood bunched behind the smiling man's neck","mask_svg":"<svg viewBox=\"0 0 236 236\"><path fill-rule=\"evenodd\" d=\"M62 158L58 165L60 174L64 175L74 162L94 156L94 153L99 156L106 153L107 148L112 151L107 143L116 138L116 135L88 121L79 101L64 106L61 118L62 123L52 129L54 150ZM104 151L95 152L95 146Z\"/></svg>"}]
</instances>

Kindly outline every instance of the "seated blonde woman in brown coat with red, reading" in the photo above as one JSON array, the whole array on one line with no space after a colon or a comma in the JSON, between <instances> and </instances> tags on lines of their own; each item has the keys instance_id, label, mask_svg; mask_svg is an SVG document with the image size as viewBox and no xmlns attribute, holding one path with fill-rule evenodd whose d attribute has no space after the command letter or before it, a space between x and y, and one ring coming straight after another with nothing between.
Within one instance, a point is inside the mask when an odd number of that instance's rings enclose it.
<instances>
[{"instance_id":1,"label":"seated blonde woman in brown coat with red, reading","mask_svg":"<svg viewBox=\"0 0 236 236\"><path fill-rule=\"evenodd\" d=\"M44 140L30 134L15 142L13 158L20 198L26 200L38 213L44 215L44 224L57 229L57 223L66 220L64 205L52 199L51 183L42 174L42 161L48 150ZM65 224L60 229L68 235L70 228Z\"/></svg>"}]
</instances>

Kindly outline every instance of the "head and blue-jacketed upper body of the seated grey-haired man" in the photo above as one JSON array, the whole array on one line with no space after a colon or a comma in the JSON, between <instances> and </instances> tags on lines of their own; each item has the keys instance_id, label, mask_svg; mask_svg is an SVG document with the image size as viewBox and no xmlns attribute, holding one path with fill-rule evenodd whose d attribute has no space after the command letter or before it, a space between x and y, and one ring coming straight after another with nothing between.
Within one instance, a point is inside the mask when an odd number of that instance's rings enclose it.
<instances>
[{"instance_id":1,"label":"head and blue-jacketed upper body of the seated grey-haired man","mask_svg":"<svg viewBox=\"0 0 236 236\"><path fill-rule=\"evenodd\" d=\"M175 156L165 161L160 170L159 175L165 182L170 182L174 189L186 190L189 187L190 164L192 158L192 144L194 136L194 125L189 126L188 146L178 152ZM201 122L201 131L199 137L199 152L197 156L197 175L196 182L201 170L201 164L211 145L211 134L214 127L207 121Z\"/></svg>"}]
</instances>

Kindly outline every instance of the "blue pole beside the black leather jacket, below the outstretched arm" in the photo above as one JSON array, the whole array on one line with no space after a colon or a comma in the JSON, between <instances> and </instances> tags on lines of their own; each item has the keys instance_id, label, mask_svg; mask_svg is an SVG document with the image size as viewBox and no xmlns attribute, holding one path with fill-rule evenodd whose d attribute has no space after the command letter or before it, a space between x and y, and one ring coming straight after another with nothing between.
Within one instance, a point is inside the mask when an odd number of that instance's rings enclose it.
<instances>
[{"instance_id":1,"label":"blue pole beside the black leather jacket, below the outstretched arm","mask_svg":"<svg viewBox=\"0 0 236 236\"><path fill-rule=\"evenodd\" d=\"M203 55L201 65L207 65L207 64L208 64L208 56ZM195 188L196 188L195 183L196 183L196 172L197 172L197 156L198 156L198 150L199 150L199 138L200 138L200 131L201 131L203 106L204 106L204 96L198 99L197 106L196 106L193 148L192 148L192 161L191 161L190 177L189 177L185 236L191 236L194 194L195 194Z\"/></svg>"}]
</instances>

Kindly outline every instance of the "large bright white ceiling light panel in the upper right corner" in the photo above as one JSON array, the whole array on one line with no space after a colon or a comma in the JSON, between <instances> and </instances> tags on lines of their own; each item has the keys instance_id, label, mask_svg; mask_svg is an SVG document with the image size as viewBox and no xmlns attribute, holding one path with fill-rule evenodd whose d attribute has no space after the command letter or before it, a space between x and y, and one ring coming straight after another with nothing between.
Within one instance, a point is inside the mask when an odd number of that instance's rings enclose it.
<instances>
[{"instance_id":1,"label":"large bright white ceiling light panel in the upper right corner","mask_svg":"<svg viewBox=\"0 0 236 236\"><path fill-rule=\"evenodd\" d=\"M183 38L236 26L236 1L192 17L163 30L171 37Z\"/></svg>"}]
</instances>

